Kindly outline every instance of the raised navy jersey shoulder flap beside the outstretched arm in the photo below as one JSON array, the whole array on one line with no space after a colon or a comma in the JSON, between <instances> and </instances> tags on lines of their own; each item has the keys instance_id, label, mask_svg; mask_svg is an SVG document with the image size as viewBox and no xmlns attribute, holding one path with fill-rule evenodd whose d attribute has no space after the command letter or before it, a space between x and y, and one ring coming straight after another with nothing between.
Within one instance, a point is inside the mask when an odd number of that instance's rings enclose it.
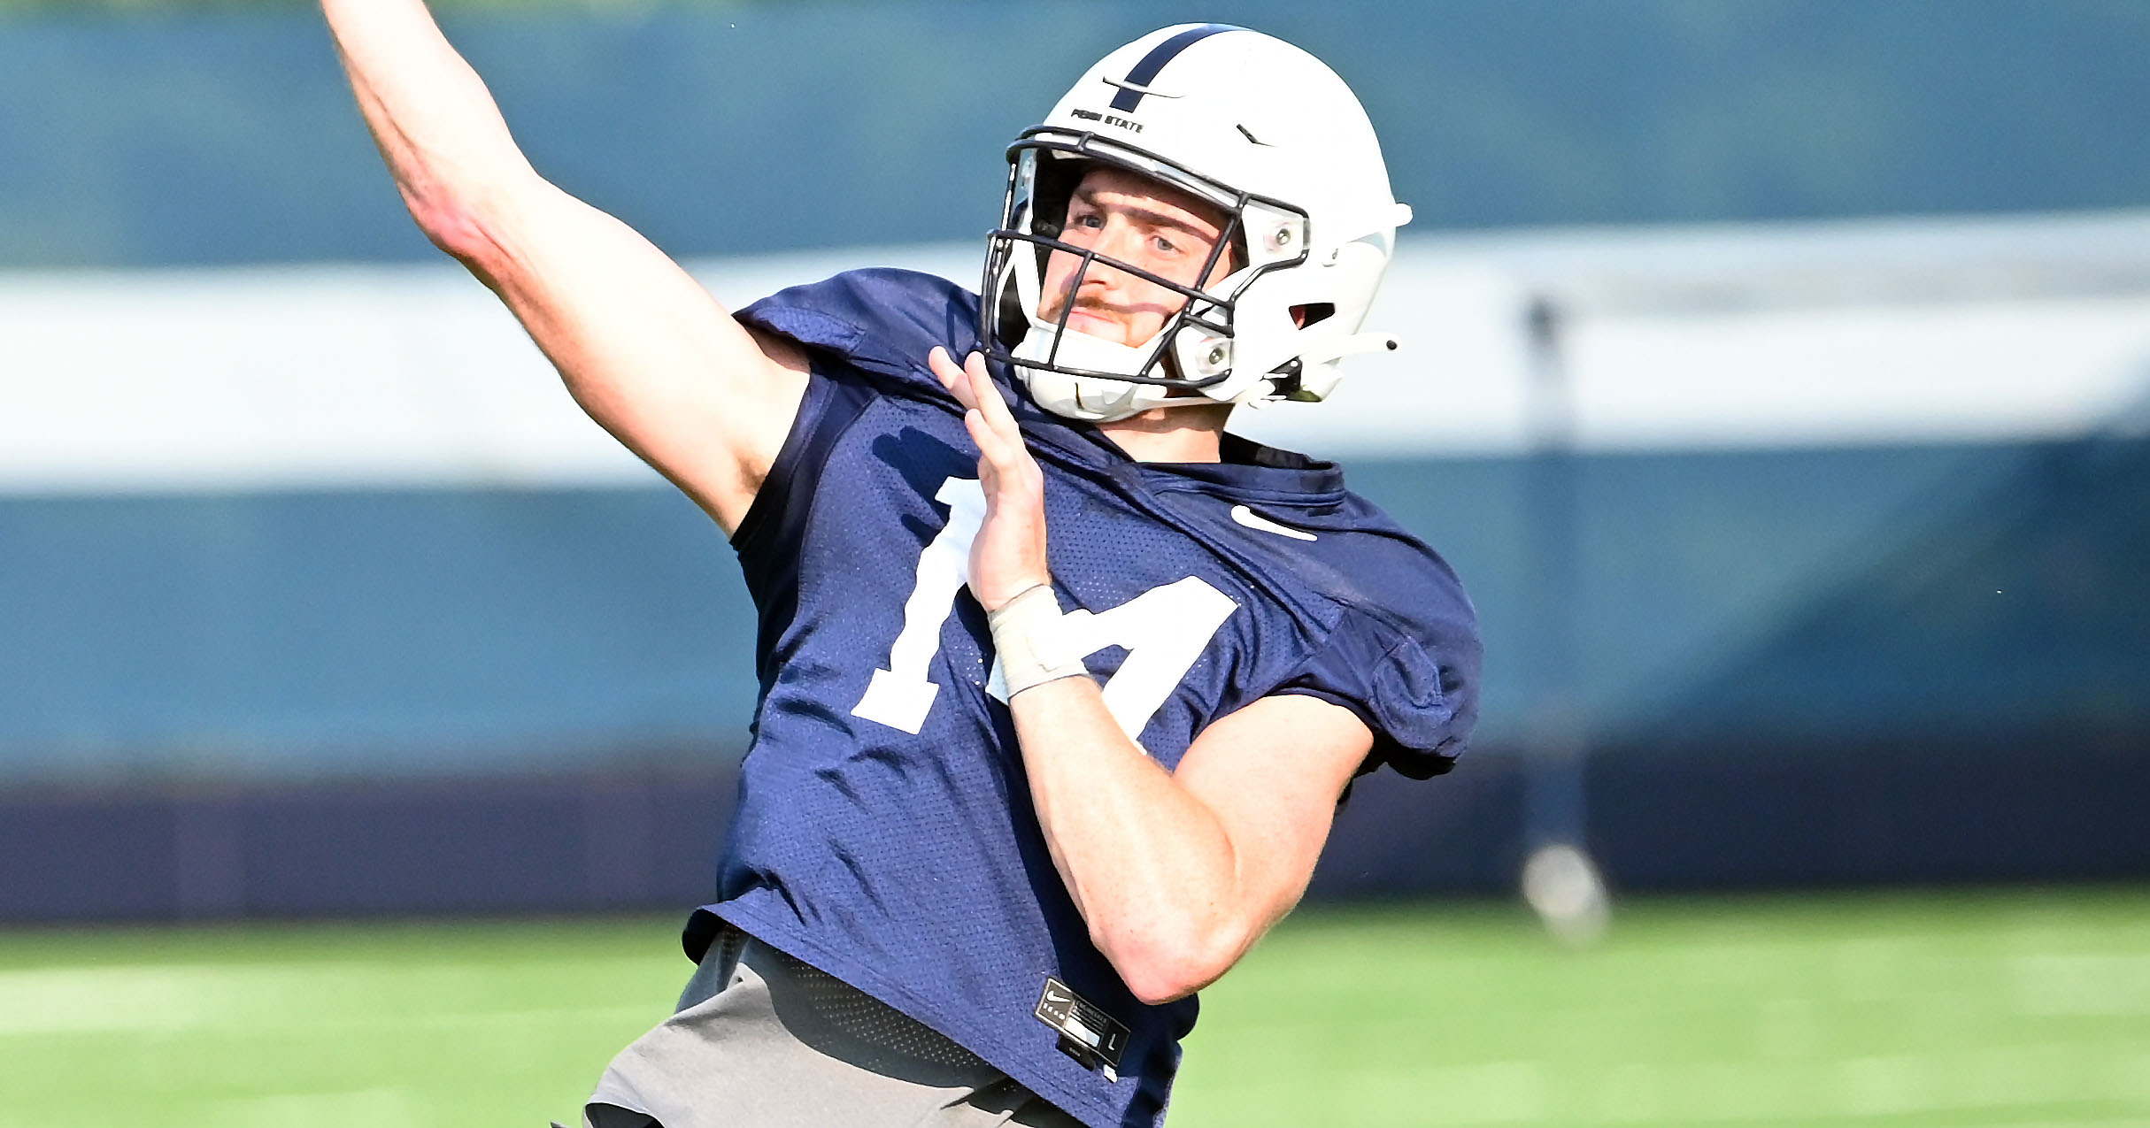
<instances>
[{"instance_id":1,"label":"raised navy jersey shoulder flap beside the outstretched arm","mask_svg":"<svg viewBox=\"0 0 2150 1128\"><path fill-rule=\"evenodd\" d=\"M978 294L944 277L892 266L778 290L740 320L836 355L869 372L909 378L933 346L963 357L978 346Z\"/></svg>"}]
</instances>

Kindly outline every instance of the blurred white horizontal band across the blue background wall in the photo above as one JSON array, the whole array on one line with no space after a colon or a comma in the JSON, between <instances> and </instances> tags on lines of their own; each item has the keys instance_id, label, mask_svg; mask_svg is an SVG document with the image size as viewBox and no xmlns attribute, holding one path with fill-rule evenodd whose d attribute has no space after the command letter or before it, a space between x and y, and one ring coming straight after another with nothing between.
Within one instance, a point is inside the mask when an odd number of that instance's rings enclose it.
<instances>
[{"instance_id":1,"label":"blurred white horizontal band across the blue background wall","mask_svg":"<svg viewBox=\"0 0 2150 1128\"><path fill-rule=\"evenodd\" d=\"M727 305L847 266L976 284L978 245L692 264ZM2150 404L2150 217L1905 219L1402 243L1329 404L1241 413L1316 453L1524 449L1522 312L1563 303L1585 449L2066 436ZM0 494L621 486L454 264L0 275Z\"/></svg>"}]
</instances>

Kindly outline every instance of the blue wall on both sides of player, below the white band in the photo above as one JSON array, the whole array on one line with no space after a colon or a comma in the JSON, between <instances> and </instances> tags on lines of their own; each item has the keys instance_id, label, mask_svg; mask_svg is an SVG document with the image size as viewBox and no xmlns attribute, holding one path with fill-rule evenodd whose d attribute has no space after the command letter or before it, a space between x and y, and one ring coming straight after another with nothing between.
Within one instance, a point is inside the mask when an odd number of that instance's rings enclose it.
<instances>
[{"instance_id":1,"label":"blue wall on both sides of player, below the white band","mask_svg":"<svg viewBox=\"0 0 2150 1128\"><path fill-rule=\"evenodd\" d=\"M1359 462L1462 572L1484 743L1550 690L1520 460ZM2098 731L2150 752L2150 445L1595 455L1604 746ZM0 501L0 778L406 776L731 756L752 608L669 490Z\"/></svg>"}]
</instances>

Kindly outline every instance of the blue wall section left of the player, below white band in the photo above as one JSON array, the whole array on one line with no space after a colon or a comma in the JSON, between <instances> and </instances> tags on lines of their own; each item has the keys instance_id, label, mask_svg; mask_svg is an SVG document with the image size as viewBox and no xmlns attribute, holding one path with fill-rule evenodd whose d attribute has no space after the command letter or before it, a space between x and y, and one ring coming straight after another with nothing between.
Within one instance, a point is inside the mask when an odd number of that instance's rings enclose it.
<instances>
[{"instance_id":1,"label":"blue wall section left of the player, below white band","mask_svg":"<svg viewBox=\"0 0 2150 1128\"><path fill-rule=\"evenodd\" d=\"M0 778L527 771L752 713L671 490L0 501Z\"/></svg>"}]
</instances>

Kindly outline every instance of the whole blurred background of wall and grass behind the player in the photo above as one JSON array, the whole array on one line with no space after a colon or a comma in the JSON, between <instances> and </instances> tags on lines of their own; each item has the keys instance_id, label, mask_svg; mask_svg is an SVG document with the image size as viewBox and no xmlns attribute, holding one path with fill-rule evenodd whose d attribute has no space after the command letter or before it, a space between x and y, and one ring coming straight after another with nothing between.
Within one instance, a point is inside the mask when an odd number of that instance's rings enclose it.
<instances>
[{"instance_id":1,"label":"whole blurred background of wall and grass behind the player","mask_svg":"<svg viewBox=\"0 0 2150 1128\"><path fill-rule=\"evenodd\" d=\"M1359 784L1174 1124L2150 1124L2150 6L441 11L733 303L970 279L1163 21L1363 95L1406 352L1245 430L1456 563L1486 720ZM684 978L750 638L307 6L0 0L0 1124L568 1115ZM1604 945L1503 900L1546 840Z\"/></svg>"}]
</instances>

